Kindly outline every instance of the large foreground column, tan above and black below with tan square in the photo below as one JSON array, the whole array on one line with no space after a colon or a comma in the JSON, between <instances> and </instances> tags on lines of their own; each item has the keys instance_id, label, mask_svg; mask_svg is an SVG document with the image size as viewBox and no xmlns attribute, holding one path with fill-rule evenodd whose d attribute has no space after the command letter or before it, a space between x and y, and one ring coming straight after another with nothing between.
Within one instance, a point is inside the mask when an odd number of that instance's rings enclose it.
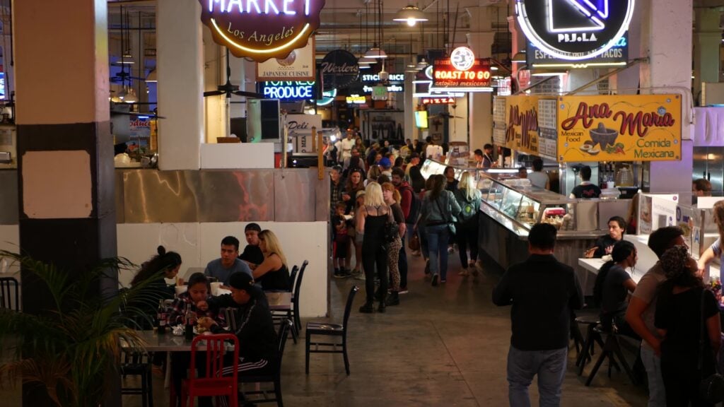
<instances>
[{"instance_id":1,"label":"large foreground column, tan above and black below with tan square","mask_svg":"<svg viewBox=\"0 0 724 407\"><path fill-rule=\"evenodd\" d=\"M20 248L77 280L116 256L113 143L109 120L106 2L14 1L14 60ZM7 50L9 51L9 50ZM5 54L9 55L9 54ZM48 77L49 63L57 80ZM23 270L22 311L54 304ZM117 290L117 276L94 293ZM65 304L71 305L71 304ZM117 374L104 406L120 406ZM23 406L51 406L37 385L23 385Z\"/></svg>"}]
</instances>

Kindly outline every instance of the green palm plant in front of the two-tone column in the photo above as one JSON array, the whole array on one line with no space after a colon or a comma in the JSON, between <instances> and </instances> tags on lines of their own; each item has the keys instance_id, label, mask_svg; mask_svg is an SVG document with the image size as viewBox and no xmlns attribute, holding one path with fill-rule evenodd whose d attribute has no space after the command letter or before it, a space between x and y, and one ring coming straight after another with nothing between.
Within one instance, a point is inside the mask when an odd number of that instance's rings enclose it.
<instances>
[{"instance_id":1,"label":"green palm plant in front of the two-tone column","mask_svg":"<svg viewBox=\"0 0 724 407\"><path fill-rule=\"evenodd\" d=\"M135 268L125 259L106 259L88 272L69 277L53 264L0 251L17 261L23 278L44 288L51 306L37 313L0 311L0 385L35 384L56 406L96 407L108 394L107 377L119 366L121 343L140 349L134 329L144 318L139 306L153 301L145 284L99 293L104 279L117 282L121 269Z\"/></svg>"}]
</instances>

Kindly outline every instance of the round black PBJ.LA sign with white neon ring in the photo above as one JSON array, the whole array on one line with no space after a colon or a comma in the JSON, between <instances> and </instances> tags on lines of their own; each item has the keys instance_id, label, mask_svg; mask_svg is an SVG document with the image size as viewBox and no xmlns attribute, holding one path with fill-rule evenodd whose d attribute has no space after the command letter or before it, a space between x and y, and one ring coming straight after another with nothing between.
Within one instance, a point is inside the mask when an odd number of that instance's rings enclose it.
<instances>
[{"instance_id":1,"label":"round black PBJ.LA sign with white neon ring","mask_svg":"<svg viewBox=\"0 0 724 407\"><path fill-rule=\"evenodd\" d=\"M546 54L582 61L604 54L628 30L635 0L515 0L518 23Z\"/></svg>"}]
</instances>

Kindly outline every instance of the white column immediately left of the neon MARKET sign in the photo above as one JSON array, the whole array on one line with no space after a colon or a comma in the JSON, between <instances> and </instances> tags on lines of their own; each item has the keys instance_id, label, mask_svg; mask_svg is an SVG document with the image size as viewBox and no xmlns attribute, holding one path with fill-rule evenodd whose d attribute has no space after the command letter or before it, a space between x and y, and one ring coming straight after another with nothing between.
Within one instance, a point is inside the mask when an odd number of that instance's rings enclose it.
<instances>
[{"instance_id":1,"label":"white column immediately left of the neon MARKET sign","mask_svg":"<svg viewBox=\"0 0 724 407\"><path fill-rule=\"evenodd\" d=\"M159 0L156 49L159 75L159 168L199 169L203 125L201 4Z\"/></svg>"}]
</instances>

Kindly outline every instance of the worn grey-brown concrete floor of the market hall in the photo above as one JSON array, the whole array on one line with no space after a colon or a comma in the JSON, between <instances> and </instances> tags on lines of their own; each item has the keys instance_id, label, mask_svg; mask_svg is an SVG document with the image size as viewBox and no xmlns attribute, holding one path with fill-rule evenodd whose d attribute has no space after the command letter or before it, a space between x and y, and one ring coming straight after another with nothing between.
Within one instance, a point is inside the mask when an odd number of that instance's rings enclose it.
<instances>
[{"instance_id":1,"label":"worn grey-brown concrete floor of the market hall","mask_svg":"<svg viewBox=\"0 0 724 407\"><path fill-rule=\"evenodd\" d=\"M304 343L291 339L283 360L282 387L286 406L508 406L505 361L510 340L510 309L492 304L500 272L484 270L478 277L459 277L457 253L450 256L445 284L432 287L424 279L423 261L413 257L410 293L385 314L360 314L364 282L332 280L332 321L342 319L352 285L362 290L350 316L350 366L345 374L341 355L313 354L304 374ZM303 301L303 298L302 298ZM598 353L597 353L598 354ZM575 373L575 349L569 353L562 406L645 406L644 387L633 386L626 374L608 378L605 366L591 387ZM590 364L586 369L586 374ZM168 405L162 379L154 382L154 406ZM0 406L17 406L17 391L0 390ZM531 386L537 406L536 386ZM268 405L268 404L267 404ZM124 396L123 406L140 407L140 397Z\"/></svg>"}]
</instances>

